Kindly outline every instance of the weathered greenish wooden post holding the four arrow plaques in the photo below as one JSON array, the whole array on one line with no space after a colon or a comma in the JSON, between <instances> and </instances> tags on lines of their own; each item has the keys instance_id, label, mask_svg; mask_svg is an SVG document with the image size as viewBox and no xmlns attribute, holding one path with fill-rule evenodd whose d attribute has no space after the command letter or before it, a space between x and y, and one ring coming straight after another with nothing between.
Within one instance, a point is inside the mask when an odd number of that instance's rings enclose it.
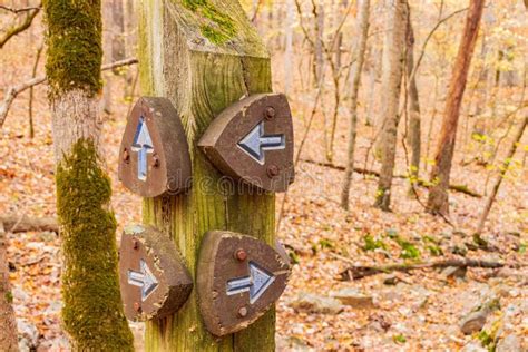
<instances>
[{"instance_id":1,"label":"weathered greenish wooden post holding the four arrow plaques","mask_svg":"<svg viewBox=\"0 0 528 352\"><path fill-rule=\"evenodd\" d=\"M176 107L193 166L190 189L146 198L143 218L170 234L195 280L207 231L229 229L274 243L275 197L247 186L226 189L223 175L196 146L223 109L243 96L271 91L270 57L236 0L144 0L138 19L143 92L166 97ZM195 286L176 315L147 324L146 349L274 351L274 334L271 310L248 329L216 339L202 322Z\"/></svg>"}]
</instances>

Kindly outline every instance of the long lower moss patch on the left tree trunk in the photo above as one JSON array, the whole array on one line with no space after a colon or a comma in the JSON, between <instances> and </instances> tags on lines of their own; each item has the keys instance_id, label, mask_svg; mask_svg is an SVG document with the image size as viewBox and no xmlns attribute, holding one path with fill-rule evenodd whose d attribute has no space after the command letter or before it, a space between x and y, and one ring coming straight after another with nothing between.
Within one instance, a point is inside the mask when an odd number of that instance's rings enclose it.
<instances>
[{"instance_id":1,"label":"long lower moss patch on the left tree trunk","mask_svg":"<svg viewBox=\"0 0 528 352\"><path fill-rule=\"evenodd\" d=\"M57 211L65 258L62 319L81 351L133 350L119 295L110 195L94 144L78 140L57 166Z\"/></svg>"}]
</instances>

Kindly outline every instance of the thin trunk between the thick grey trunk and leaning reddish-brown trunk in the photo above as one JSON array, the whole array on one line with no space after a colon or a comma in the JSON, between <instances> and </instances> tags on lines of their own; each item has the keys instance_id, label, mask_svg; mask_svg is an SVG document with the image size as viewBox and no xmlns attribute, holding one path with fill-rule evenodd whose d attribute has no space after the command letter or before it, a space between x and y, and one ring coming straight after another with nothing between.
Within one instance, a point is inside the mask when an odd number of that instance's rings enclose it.
<instances>
[{"instance_id":1,"label":"thin trunk between the thick grey trunk and leaning reddish-brown trunk","mask_svg":"<svg viewBox=\"0 0 528 352\"><path fill-rule=\"evenodd\" d=\"M407 77L409 81L409 135L408 140L411 145L411 165L409 166L409 177L412 187L418 182L420 174L420 157L421 157L421 120L420 120L420 100L418 96L418 86L415 75L412 75L414 69L414 31L412 29L411 16L409 13L407 27ZM411 77L412 76L412 77Z\"/></svg>"}]
</instances>

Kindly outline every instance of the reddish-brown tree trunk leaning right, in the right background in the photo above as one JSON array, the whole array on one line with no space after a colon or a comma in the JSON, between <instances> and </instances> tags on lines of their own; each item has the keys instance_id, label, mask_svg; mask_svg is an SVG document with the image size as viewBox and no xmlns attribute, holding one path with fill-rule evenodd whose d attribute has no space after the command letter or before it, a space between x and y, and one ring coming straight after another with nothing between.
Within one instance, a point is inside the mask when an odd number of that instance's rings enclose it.
<instances>
[{"instance_id":1,"label":"reddish-brown tree trunk leaning right, in the right background","mask_svg":"<svg viewBox=\"0 0 528 352\"><path fill-rule=\"evenodd\" d=\"M454 154L458 118L483 7L485 0L471 0L453 67L434 166L431 172L431 182L434 186L429 192L427 208L432 214L442 213L446 215L449 213L448 185Z\"/></svg>"}]
</instances>

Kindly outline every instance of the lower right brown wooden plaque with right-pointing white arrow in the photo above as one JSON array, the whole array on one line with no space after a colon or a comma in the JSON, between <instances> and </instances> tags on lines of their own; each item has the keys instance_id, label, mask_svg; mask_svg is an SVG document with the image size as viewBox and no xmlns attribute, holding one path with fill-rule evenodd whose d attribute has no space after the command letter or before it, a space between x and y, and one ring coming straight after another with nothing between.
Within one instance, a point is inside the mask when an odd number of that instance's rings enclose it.
<instances>
[{"instance_id":1,"label":"lower right brown wooden plaque with right-pointing white arrow","mask_svg":"<svg viewBox=\"0 0 528 352\"><path fill-rule=\"evenodd\" d=\"M208 232L199 253L197 287L207 330L222 336L247 327L278 300L290 264L254 237L227 231Z\"/></svg>"}]
</instances>

